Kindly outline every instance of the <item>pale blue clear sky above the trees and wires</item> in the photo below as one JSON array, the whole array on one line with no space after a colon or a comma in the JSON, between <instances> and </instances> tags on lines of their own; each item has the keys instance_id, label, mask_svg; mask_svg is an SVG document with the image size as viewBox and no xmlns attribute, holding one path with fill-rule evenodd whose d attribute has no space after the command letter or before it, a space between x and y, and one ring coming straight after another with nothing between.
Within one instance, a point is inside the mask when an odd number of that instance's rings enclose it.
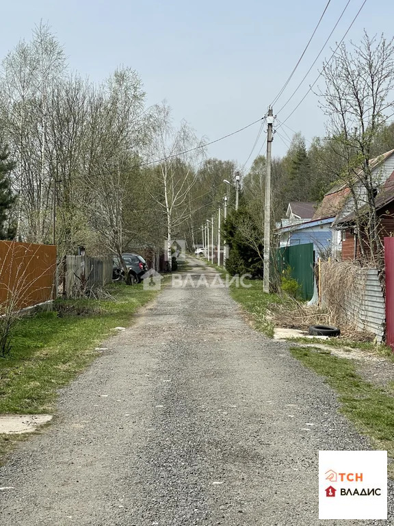
<instances>
[{"instance_id":1,"label":"pale blue clear sky above the trees and wires","mask_svg":"<svg viewBox=\"0 0 394 526\"><path fill-rule=\"evenodd\" d=\"M199 137L215 140L261 118L286 82L328 0L14 0L3 3L0 58L35 25L51 25L70 69L101 82L117 66L137 71L148 105L166 99L174 123L185 119ZM315 60L347 0L331 0L289 86L274 105L276 126L308 91L324 58L343 38L363 0L350 4L300 90L281 106ZM367 0L345 42L394 34L389 0ZM322 85L321 79L317 86ZM316 86L316 87L317 87ZM285 155L293 131L306 144L324 135L325 116L312 92L274 135L273 155ZM264 152L259 123L211 145L209 157L235 160L246 170Z\"/></svg>"}]
</instances>

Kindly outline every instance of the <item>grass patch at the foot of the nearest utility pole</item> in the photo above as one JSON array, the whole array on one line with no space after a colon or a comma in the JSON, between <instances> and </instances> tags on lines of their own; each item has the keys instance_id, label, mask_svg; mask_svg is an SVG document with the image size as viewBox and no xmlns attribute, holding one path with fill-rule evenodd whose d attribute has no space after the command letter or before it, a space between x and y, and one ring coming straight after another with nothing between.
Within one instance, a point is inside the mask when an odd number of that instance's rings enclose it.
<instances>
[{"instance_id":1,"label":"grass patch at the foot of the nearest utility pole","mask_svg":"<svg viewBox=\"0 0 394 526\"><path fill-rule=\"evenodd\" d=\"M263 280L250 279L245 281L249 288L237 287L235 284L230 286L230 293L233 299L240 303L242 307L252 315L253 326L266 336L274 336L274 324L267 319L267 310L274 304L282 302L280 296L263 292Z\"/></svg>"}]
</instances>

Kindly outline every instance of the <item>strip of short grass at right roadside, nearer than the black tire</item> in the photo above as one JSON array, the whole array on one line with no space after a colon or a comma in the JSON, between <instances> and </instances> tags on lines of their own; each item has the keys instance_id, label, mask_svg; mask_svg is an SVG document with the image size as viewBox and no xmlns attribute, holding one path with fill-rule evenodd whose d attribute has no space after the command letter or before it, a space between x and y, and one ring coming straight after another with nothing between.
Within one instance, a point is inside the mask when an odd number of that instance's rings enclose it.
<instances>
[{"instance_id":1,"label":"strip of short grass at right roadside, nearer than the black tire","mask_svg":"<svg viewBox=\"0 0 394 526\"><path fill-rule=\"evenodd\" d=\"M386 449L394 458L394 392L365 381L351 360L333 356L329 351L292 347L291 353L326 378L339 393L341 411L371 438L377 449Z\"/></svg>"}]
</instances>

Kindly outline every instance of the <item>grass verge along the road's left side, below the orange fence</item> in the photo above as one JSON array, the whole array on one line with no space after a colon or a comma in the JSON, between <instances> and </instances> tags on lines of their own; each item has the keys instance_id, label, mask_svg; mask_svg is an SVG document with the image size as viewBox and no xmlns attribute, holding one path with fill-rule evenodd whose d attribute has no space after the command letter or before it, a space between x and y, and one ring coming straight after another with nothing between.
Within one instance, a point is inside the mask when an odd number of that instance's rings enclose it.
<instances>
[{"instance_id":1,"label":"grass verge along the road's left side, below the orange fence","mask_svg":"<svg viewBox=\"0 0 394 526\"><path fill-rule=\"evenodd\" d=\"M142 284L116 284L110 292L115 300L58 300L52 312L18 321L11 353L0 358L0 414L53 413L57 389L94 360L94 347L111 329L131 325L135 311L157 294ZM18 439L0 435L0 453Z\"/></svg>"}]
</instances>

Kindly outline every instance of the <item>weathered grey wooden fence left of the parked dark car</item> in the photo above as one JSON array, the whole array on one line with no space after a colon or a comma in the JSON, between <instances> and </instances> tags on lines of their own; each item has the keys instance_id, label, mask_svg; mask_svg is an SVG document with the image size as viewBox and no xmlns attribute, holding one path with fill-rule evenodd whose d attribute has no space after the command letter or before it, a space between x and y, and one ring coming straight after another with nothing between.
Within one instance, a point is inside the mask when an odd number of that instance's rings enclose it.
<instances>
[{"instance_id":1,"label":"weathered grey wooden fence left of the parked dark car","mask_svg":"<svg viewBox=\"0 0 394 526\"><path fill-rule=\"evenodd\" d=\"M101 287L111 283L112 258L104 255L67 255L62 268L62 295L72 297L81 288Z\"/></svg>"}]
</instances>

